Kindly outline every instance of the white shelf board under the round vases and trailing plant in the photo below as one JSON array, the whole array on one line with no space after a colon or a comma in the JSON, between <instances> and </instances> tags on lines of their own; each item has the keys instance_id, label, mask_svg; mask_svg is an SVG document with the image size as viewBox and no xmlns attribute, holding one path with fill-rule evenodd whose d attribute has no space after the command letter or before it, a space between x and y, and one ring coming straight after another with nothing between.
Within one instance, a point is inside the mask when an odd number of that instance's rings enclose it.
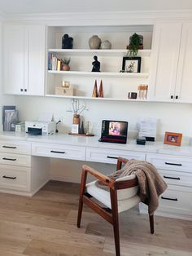
<instances>
[{"instance_id":1,"label":"white shelf board under the round vases and trailing plant","mask_svg":"<svg viewBox=\"0 0 192 256\"><path fill-rule=\"evenodd\" d=\"M108 55L108 56L125 56L129 50L126 49L49 49L49 52L62 55ZM138 50L137 56L150 56L151 49Z\"/></svg>"}]
</instances>

